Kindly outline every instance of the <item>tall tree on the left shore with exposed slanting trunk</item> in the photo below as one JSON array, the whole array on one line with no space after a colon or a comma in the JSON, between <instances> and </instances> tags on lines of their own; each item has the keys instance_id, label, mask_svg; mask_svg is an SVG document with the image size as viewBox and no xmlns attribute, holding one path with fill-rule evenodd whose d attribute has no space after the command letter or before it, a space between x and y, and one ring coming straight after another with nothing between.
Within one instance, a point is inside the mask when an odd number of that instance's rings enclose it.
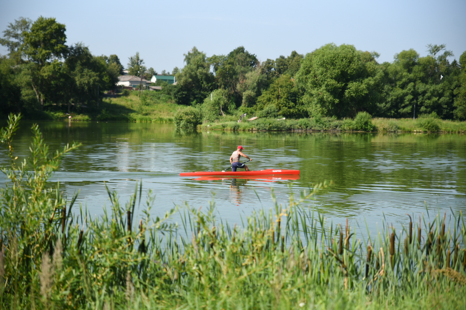
<instances>
[{"instance_id":1,"label":"tall tree on the left shore with exposed slanting trunk","mask_svg":"<svg viewBox=\"0 0 466 310\"><path fill-rule=\"evenodd\" d=\"M65 25L57 23L55 18L41 16L31 26L31 30L24 33L21 50L28 59L31 85L41 108L44 106L46 84L54 76L47 67L51 62L64 57L68 51L65 30Z\"/></svg>"}]
</instances>

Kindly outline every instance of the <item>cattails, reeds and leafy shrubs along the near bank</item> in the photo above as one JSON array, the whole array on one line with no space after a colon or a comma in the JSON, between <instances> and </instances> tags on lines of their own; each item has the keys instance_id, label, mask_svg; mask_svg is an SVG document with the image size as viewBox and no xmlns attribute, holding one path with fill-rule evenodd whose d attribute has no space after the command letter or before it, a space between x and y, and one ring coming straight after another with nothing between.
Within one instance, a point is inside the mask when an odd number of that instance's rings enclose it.
<instances>
[{"instance_id":1,"label":"cattails, reeds and leafy shrubs along the near bank","mask_svg":"<svg viewBox=\"0 0 466 310\"><path fill-rule=\"evenodd\" d=\"M9 147L16 127L0 133L14 183L0 195L0 309L464 309L461 213L446 215L450 225L439 214L402 231L382 223L360 240L302 206L322 183L241 226L219 221L213 204L180 207L179 227L176 209L150 218L154 197L138 186L124 205L109 193L92 218L46 188L79 145L50 155L35 127L24 166Z\"/></svg>"}]
</instances>

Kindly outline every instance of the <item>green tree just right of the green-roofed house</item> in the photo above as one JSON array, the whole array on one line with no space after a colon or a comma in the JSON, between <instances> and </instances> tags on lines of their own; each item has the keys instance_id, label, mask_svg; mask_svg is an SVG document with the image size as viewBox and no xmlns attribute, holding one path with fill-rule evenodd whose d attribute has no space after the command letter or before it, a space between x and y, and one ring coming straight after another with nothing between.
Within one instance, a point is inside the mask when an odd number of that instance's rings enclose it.
<instances>
[{"instance_id":1,"label":"green tree just right of the green-roofed house","mask_svg":"<svg viewBox=\"0 0 466 310\"><path fill-rule=\"evenodd\" d=\"M178 85L173 93L174 99L182 105L202 103L214 89L215 82L206 54L194 46L185 54L185 63L183 70L176 75Z\"/></svg>"}]
</instances>

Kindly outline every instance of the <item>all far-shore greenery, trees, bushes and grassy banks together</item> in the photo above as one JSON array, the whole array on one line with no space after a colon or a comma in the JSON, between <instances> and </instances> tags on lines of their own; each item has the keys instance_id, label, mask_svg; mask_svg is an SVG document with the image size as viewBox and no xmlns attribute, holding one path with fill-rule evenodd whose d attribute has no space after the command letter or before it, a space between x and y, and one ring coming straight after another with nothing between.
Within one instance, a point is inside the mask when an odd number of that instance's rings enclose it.
<instances>
[{"instance_id":1,"label":"all far-shore greenery, trees, bushes and grassy banks together","mask_svg":"<svg viewBox=\"0 0 466 310\"><path fill-rule=\"evenodd\" d=\"M0 38L0 119L174 123L178 128L240 131L465 132L466 52L427 44L377 62L353 45L260 62L243 46L211 55L195 46L184 54L175 84L161 90L118 87L117 55L92 55L67 45L54 18L9 23ZM139 53L128 74L158 74ZM154 85L155 86L155 85ZM144 87L142 87L144 88ZM242 117L244 116L244 117ZM242 121L238 120L242 117ZM256 120L247 119L257 117Z\"/></svg>"}]
</instances>

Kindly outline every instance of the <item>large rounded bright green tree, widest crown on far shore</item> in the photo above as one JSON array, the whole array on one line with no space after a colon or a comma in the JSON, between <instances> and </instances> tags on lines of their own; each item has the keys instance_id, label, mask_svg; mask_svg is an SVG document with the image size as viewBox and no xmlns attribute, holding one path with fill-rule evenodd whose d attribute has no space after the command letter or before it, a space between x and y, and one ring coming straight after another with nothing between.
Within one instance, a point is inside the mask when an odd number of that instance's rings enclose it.
<instances>
[{"instance_id":1,"label":"large rounded bright green tree, widest crown on far shore","mask_svg":"<svg viewBox=\"0 0 466 310\"><path fill-rule=\"evenodd\" d=\"M370 53L369 53L370 54ZM327 44L308 53L296 74L296 84L309 114L353 117L379 100L377 55L352 45Z\"/></svg>"}]
</instances>

